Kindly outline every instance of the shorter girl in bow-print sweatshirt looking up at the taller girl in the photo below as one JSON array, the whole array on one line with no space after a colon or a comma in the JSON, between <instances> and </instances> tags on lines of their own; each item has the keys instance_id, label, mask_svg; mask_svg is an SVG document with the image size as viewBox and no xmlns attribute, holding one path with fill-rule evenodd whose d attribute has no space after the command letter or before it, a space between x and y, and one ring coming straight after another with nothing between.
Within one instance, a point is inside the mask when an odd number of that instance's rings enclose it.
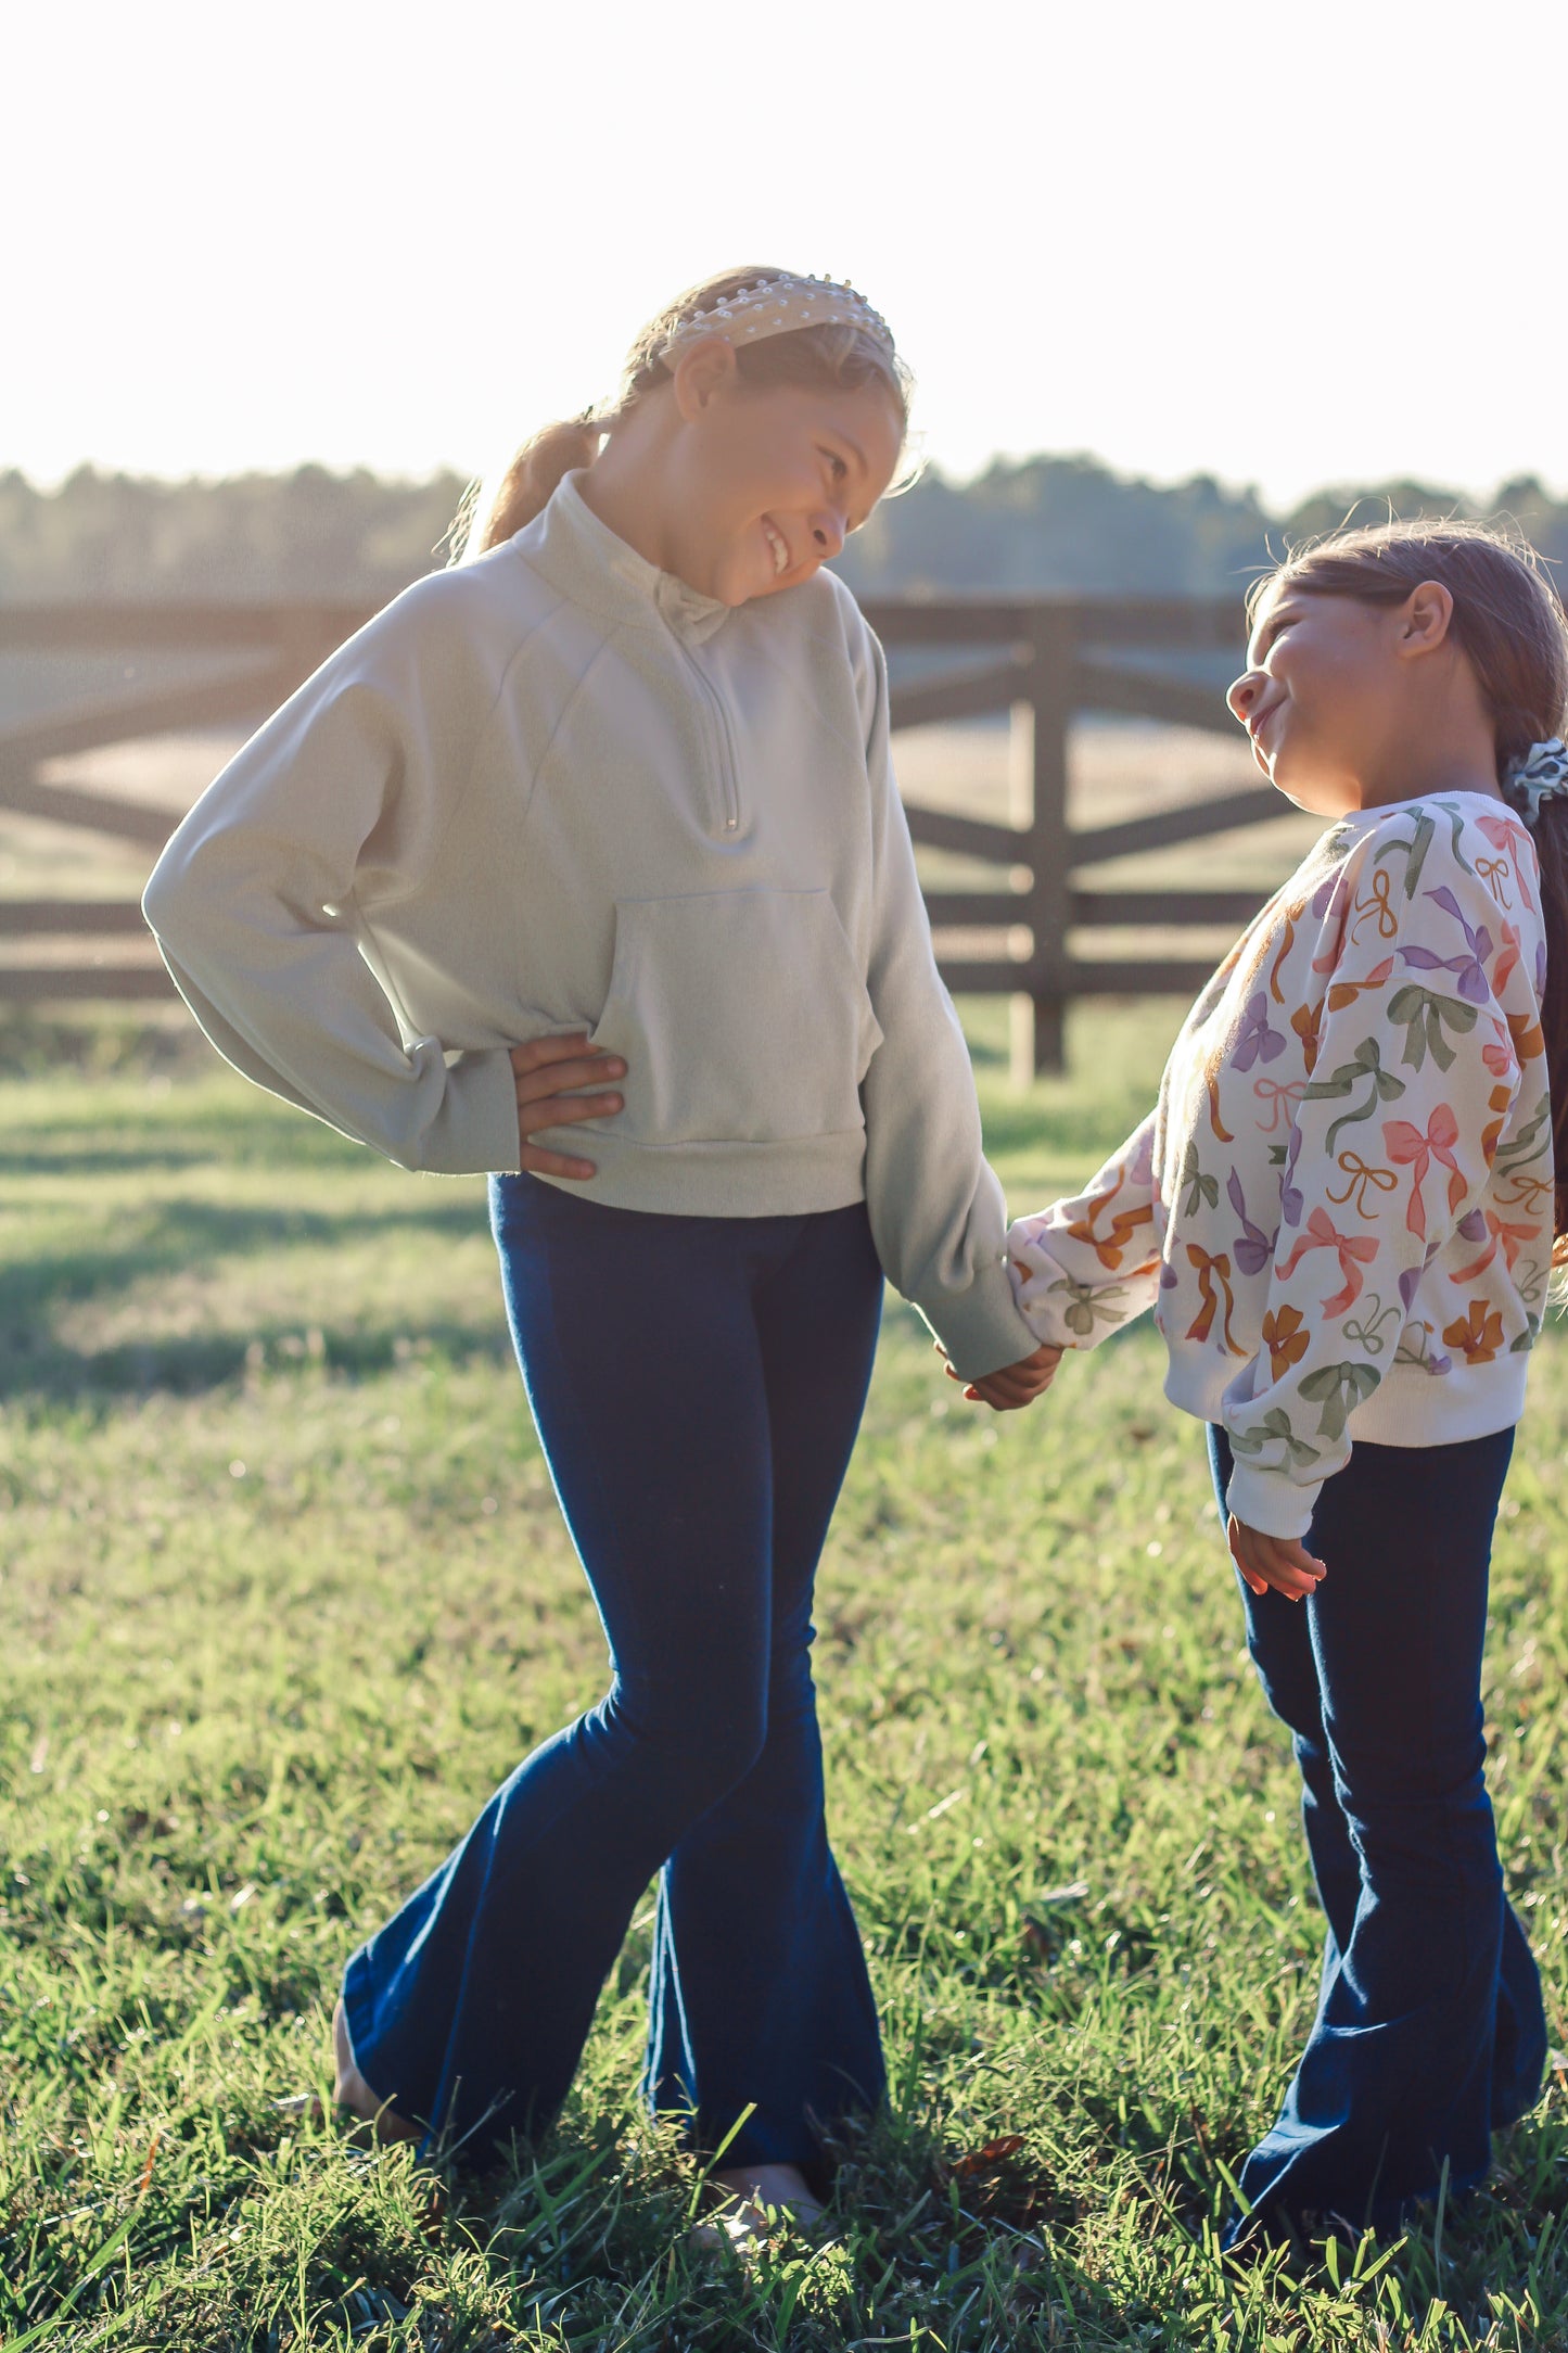
<instances>
[{"instance_id":1,"label":"shorter girl in bow-print sweatshirt looking up at the taller girl","mask_svg":"<svg viewBox=\"0 0 1568 2353\"><path fill-rule=\"evenodd\" d=\"M1274 572L1229 706L1326 833L1194 1005L1159 1108L1011 1235L1053 1348L1154 1308L1295 1734L1324 1979L1234 2235L1392 2226L1479 2181L1540 2089L1481 1642L1568 1228L1566 701L1559 602L1493 532L1345 532Z\"/></svg>"}]
</instances>

